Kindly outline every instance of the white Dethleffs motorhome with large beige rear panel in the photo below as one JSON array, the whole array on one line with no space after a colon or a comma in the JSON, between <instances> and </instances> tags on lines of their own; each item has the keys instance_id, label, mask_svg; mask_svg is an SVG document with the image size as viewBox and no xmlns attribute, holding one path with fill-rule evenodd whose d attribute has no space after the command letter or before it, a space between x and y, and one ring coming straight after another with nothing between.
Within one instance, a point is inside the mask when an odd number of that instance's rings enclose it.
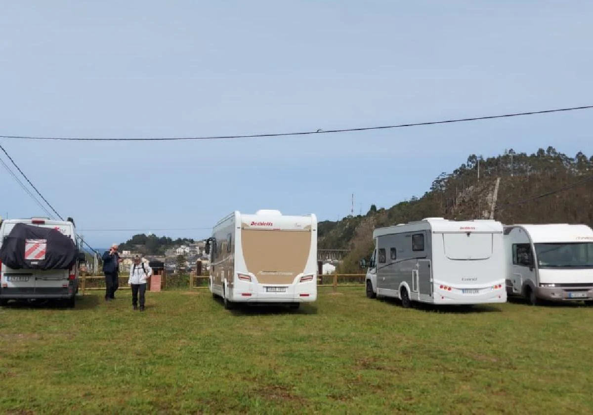
<instances>
[{"instance_id":1,"label":"white Dethleffs motorhome with large beige rear panel","mask_svg":"<svg viewBox=\"0 0 593 415\"><path fill-rule=\"evenodd\" d=\"M317 218L278 210L233 212L206 241L210 290L225 307L282 303L299 308L317 299Z\"/></svg>"}]
</instances>

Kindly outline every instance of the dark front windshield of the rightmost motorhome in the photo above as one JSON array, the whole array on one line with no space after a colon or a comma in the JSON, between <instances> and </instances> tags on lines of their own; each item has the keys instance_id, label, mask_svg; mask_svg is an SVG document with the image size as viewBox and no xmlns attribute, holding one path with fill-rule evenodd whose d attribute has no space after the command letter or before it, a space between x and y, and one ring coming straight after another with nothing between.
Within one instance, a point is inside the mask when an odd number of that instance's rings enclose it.
<instances>
[{"instance_id":1,"label":"dark front windshield of the rightmost motorhome","mask_svg":"<svg viewBox=\"0 0 593 415\"><path fill-rule=\"evenodd\" d=\"M535 244L535 254L543 268L593 267L593 242Z\"/></svg>"}]
</instances>

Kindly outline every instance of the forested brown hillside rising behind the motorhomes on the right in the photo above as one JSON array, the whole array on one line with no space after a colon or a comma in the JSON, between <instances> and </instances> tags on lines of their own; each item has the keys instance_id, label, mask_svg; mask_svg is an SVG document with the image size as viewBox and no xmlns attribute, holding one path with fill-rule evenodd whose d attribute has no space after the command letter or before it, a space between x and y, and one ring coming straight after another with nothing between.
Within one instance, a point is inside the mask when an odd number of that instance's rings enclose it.
<instances>
[{"instance_id":1,"label":"forested brown hillside rising behind the motorhomes on the right","mask_svg":"<svg viewBox=\"0 0 593 415\"><path fill-rule=\"evenodd\" d=\"M479 177L478 177L479 170ZM366 215L320 222L319 248L350 249L340 272L361 272L358 260L372 251L372 230L438 216L488 218L500 178L494 218L503 224L568 222L593 225L593 157L569 157L553 147L534 154L512 149L482 159L472 154L464 164L441 173L422 197L389 209L371 206Z\"/></svg>"}]
</instances>

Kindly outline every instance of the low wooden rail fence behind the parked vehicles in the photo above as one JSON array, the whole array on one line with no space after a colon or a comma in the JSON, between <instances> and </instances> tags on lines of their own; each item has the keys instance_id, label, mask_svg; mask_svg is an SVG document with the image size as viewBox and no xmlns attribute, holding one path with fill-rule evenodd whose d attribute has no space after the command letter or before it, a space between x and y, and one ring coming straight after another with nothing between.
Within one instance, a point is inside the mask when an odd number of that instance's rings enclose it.
<instances>
[{"instance_id":1,"label":"low wooden rail fence behind the parked vehicles","mask_svg":"<svg viewBox=\"0 0 593 415\"><path fill-rule=\"evenodd\" d=\"M121 279L127 275L120 274L119 289L129 289L127 284L122 284ZM104 286L87 287L87 280L104 280L103 275L89 275L80 277L80 292L82 295L87 290L104 290ZM208 275L189 275L189 289L208 289L210 276ZM318 287L333 287L336 292L338 287L361 287L365 285L365 274L324 274L317 276ZM167 274L163 276L163 289L167 288Z\"/></svg>"}]
</instances>

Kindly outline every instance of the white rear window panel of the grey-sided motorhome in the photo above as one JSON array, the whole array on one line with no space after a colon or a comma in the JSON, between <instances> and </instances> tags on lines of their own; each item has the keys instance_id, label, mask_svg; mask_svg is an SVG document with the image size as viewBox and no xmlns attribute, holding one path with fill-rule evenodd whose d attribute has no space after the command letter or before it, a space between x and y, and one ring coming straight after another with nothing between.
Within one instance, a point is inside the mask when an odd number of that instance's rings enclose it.
<instances>
[{"instance_id":1,"label":"white rear window panel of the grey-sided motorhome","mask_svg":"<svg viewBox=\"0 0 593 415\"><path fill-rule=\"evenodd\" d=\"M484 260L492 256L493 234L442 234L445 256L451 260Z\"/></svg>"}]
</instances>

